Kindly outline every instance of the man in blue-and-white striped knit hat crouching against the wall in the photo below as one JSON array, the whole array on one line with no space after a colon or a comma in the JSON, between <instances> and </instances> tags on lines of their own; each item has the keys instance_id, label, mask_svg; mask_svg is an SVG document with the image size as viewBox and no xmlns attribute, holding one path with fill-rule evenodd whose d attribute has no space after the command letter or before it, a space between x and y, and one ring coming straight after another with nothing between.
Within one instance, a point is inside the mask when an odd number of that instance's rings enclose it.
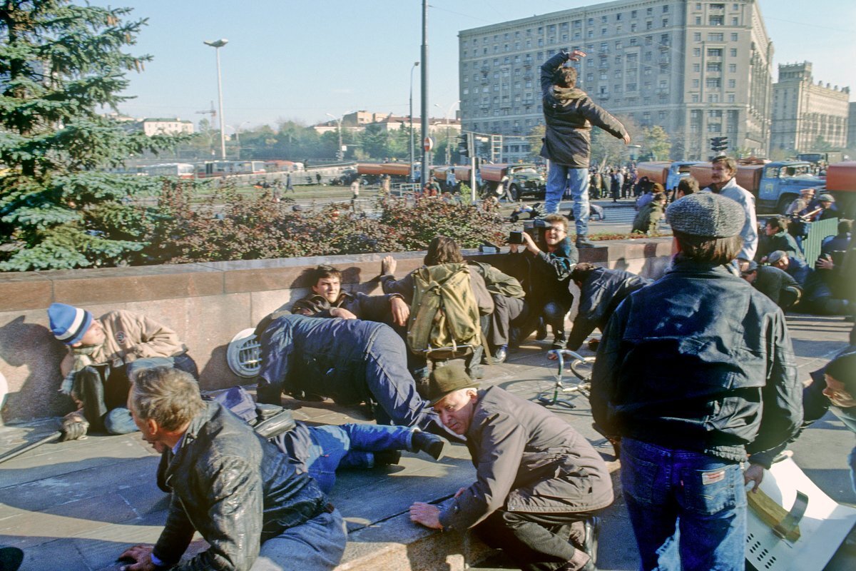
<instances>
[{"instance_id":1,"label":"man in blue-and-white striped knit hat crouching against the wall","mask_svg":"<svg viewBox=\"0 0 856 571\"><path fill-rule=\"evenodd\" d=\"M140 313L116 310L96 319L80 307L52 303L48 318L53 335L68 346L60 392L78 407L62 419L67 439L85 436L89 425L110 434L136 431L126 407L134 372L170 366L199 377L175 331Z\"/></svg>"}]
</instances>

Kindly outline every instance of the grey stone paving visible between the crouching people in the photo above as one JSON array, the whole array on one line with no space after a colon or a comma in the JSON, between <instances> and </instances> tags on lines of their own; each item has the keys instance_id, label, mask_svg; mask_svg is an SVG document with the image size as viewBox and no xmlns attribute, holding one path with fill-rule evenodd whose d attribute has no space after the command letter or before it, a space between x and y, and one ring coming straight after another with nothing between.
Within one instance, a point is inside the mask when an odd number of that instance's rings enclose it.
<instances>
[{"instance_id":1,"label":"grey stone paving visible between the crouching people","mask_svg":"<svg viewBox=\"0 0 856 571\"><path fill-rule=\"evenodd\" d=\"M788 316L788 327L800 375L805 378L846 346L853 324L841 318L794 315ZM499 384L525 398L550 389L556 365L546 360L546 348L548 342L530 339L507 363L486 366L484 384ZM571 400L575 408L553 407L554 412L612 461L611 445L591 428L586 398ZM309 422L367 421L365 409L359 407L338 407L329 401L287 402L294 406L297 418ZM55 428L54 419L0 427L0 453ZM846 459L852 446L849 431L827 418L794 444L794 458L831 497L854 503ZM157 461L139 434L130 434L45 444L0 464L0 545L22 546L25 571L57 568L57 562L62 562L63 569L115 570L122 550L158 538L167 497L154 483ZM407 517L414 501L447 501L473 476L467 449L451 444L438 462L405 453L396 467L340 472L330 495L348 521L348 549L339 568L456 571L484 560L490 550L469 535L431 532ZM192 549L204 550L205 542L198 539ZM475 568L508 568L501 556L486 561ZM836 561L830 563L830 571L847 568L846 559ZM637 567L633 532L619 498L604 514L598 568Z\"/></svg>"}]
</instances>

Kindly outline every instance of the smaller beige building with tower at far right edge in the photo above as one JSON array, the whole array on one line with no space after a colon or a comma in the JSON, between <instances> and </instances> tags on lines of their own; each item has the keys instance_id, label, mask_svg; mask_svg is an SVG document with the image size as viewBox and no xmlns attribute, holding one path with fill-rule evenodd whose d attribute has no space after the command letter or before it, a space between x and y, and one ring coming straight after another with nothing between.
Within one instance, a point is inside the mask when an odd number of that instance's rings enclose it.
<instances>
[{"instance_id":1,"label":"smaller beige building with tower at far right edge","mask_svg":"<svg viewBox=\"0 0 856 571\"><path fill-rule=\"evenodd\" d=\"M847 146L850 90L823 86L811 77L811 62L779 66L773 86L773 125L770 152L823 150Z\"/></svg>"}]
</instances>

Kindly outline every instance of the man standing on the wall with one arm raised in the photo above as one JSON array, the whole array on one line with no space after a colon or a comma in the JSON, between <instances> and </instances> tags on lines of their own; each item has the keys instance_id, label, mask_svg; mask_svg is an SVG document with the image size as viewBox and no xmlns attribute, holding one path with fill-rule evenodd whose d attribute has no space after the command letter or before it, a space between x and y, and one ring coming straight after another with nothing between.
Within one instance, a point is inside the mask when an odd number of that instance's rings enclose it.
<instances>
[{"instance_id":1,"label":"man standing on the wall with one arm raised","mask_svg":"<svg viewBox=\"0 0 856 571\"><path fill-rule=\"evenodd\" d=\"M594 246L587 240L591 126L602 128L623 140L625 145L630 142L630 135L621 122L594 104L586 92L576 86L577 70L564 67L568 60L575 62L585 56L582 51L568 53L562 50L541 66L541 93L546 123L541 156L550 160L544 212L556 214L565 187L571 188L577 247Z\"/></svg>"}]
</instances>

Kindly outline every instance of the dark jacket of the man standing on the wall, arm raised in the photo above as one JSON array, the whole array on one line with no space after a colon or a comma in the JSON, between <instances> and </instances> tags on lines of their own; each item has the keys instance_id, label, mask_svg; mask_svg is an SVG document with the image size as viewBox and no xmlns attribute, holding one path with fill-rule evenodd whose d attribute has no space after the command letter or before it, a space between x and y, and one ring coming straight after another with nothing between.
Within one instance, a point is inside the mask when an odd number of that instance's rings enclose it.
<instances>
[{"instance_id":1,"label":"dark jacket of the man standing on the wall, arm raised","mask_svg":"<svg viewBox=\"0 0 856 571\"><path fill-rule=\"evenodd\" d=\"M544 146L541 156L556 164L587 169L591 155L591 126L602 128L618 139L627 134L624 125L594 104L581 89L556 87L553 72L568 61L560 51L541 66L541 93L544 104Z\"/></svg>"}]
</instances>

